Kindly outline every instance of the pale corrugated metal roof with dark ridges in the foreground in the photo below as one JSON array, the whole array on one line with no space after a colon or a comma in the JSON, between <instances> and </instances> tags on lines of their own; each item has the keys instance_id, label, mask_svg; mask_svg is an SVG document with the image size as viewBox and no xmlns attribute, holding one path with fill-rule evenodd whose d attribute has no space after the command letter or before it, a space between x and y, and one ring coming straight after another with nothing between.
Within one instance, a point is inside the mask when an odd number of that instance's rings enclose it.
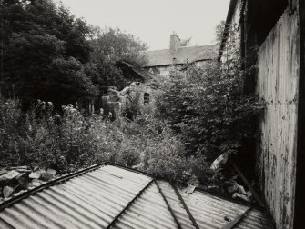
<instances>
[{"instance_id":1,"label":"pale corrugated metal roof with dark ridges in the foreground","mask_svg":"<svg viewBox=\"0 0 305 229\"><path fill-rule=\"evenodd\" d=\"M222 228L247 209L101 164L6 200L0 204L0 228ZM236 228L271 226L264 214L251 209Z\"/></svg>"}]
</instances>

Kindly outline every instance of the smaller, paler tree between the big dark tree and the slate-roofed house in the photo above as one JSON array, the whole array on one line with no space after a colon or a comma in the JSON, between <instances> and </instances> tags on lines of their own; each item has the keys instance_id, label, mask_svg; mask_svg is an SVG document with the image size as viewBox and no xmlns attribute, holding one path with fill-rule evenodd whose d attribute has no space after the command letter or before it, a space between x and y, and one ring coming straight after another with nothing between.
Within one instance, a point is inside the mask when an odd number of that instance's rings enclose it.
<instances>
[{"instance_id":1,"label":"smaller, paler tree between the big dark tree and the slate-roofed house","mask_svg":"<svg viewBox=\"0 0 305 229\"><path fill-rule=\"evenodd\" d=\"M122 89L126 86L125 79L117 62L126 61L131 65L141 67L146 64L142 51L147 49L146 44L133 35L123 33L119 29L91 27L90 63L86 65L86 73L91 76L95 85L99 87L101 95L107 86L117 86Z\"/></svg>"}]
</instances>

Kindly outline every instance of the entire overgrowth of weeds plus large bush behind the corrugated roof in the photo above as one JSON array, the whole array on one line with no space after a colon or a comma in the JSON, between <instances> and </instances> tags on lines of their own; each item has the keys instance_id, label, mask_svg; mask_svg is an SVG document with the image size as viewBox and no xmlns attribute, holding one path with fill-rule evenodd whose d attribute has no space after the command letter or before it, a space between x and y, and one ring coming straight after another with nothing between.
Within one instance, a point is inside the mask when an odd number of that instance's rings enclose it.
<instances>
[{"instance_id":1,"label":"entire overgrowth of weeds plus large bush behind the corrugated roof","mask_svg":"<svg viewBox=\"0 0 305 229\"><path fill-rule=\"evenodd\" d=\"M52 103L38 101L25 114L18 101L2 102L1 161L60 173L112 162L172 182L186 183L195 175L200 184L224 194L235 182L232 174L210 166L255 137L255 119L264 104L255 95L243 95L244 75L233 63L211 63L205 70L193 66L187 77L175 76L164 82L156 110L138 105L135 96L125 108L129 119L115 122L103 114L86 116L73 105L63 106L58 115Z\"/></svg>"}]
</instances>

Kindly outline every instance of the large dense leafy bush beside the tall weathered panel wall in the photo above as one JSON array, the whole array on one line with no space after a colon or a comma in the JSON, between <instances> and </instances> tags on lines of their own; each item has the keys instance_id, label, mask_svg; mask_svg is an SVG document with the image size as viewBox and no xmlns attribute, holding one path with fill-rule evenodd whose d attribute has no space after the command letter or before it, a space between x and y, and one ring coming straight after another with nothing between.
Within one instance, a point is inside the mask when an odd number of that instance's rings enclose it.
<instances>
[{"instance_id":1,"label":"large dense leafy bush beside the tall weathered panel wall","mask_svg":"<svg viewBox=\"0 0 305 229\"><path fill-rule=\"evenodd\" d=\"M253 138L264 103L243 95L244 73L239 63L190 67L187 79L163 86L158 113L182 135L188 154L203 154L211 162L219 154L236 154L245 138Z\"/></svg>"}]
</instances>

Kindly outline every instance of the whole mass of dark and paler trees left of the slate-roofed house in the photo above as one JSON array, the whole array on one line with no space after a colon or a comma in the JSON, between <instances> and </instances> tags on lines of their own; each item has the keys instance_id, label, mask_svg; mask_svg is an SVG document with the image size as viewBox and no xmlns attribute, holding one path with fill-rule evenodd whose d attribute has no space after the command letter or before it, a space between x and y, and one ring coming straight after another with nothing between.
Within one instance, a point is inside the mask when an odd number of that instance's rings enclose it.
<instances>
[{"instance_id":1,"label":"whole mass of dark and paler trees left of the slate-roofed house","mask_svg":"<svg viewBox=\"0 0 305 229\"><path fill-rule=\"evenodd\" d=\"M0 1L2 88L25 105L36 99L65 105L124 86L116 62L143 65L145 45L118 29L99 30L51 0Z\"/></svg>"}]
</instances>

